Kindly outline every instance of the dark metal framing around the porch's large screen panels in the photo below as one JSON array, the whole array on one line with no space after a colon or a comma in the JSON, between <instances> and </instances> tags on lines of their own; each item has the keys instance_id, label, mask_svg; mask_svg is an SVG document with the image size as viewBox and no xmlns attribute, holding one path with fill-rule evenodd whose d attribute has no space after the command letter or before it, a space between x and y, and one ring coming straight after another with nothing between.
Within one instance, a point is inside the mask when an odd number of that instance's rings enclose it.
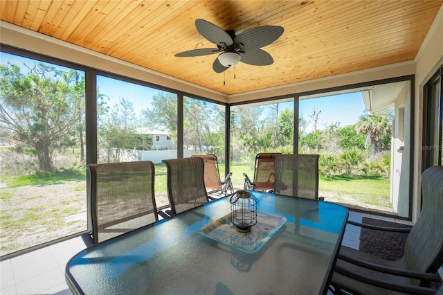
<instances>
[{"instance_id":1,"label":"dark metal framing around the porch's large screen panels","mask_svg":"<svg viewBox=\"0 0 443 295\"><path fill-rule=\"evenodd\" d=\"M86 91L86 97L85 97L85 117L86 117L86 128L85 128L85 138L86 138L86 163L97 163L97 107L96 107L96 96L97 96L97 82L96 82L96 76L102 75L108 78L114 78L118 80L123 80L125 82L131 82L134 84L140 84L145 87L151 87L153 89L158 89L161 91L168 91L170 93L175 93L178 96L178 105L177 105L177 157L183 157L183 96L187 96L190 98L195 98L199 100L205 100L208 102L213 102L217 105L223 105L225 107L225 159L230 159L230 114L231 114L231 108L235 107L236 105L244 105L244 104L253 104L256 102L266 102L266 103L272 103L274 100L282 100L287 98L293 98L293 109L294 109L294 122L298 122L299 118L299 106L298 102L300 100L300 96L307 96L312 95L316 93L325 93L329 91L338 91L338 90L344 90L344 89L352 89L357 87L364 87L371 84L385 84L390 82L397 82L397 81L404 81L404 80L410 80L410 129L414 130L414 124L415 124L415 75L406 75L402 77L397 78L389 78L384 80L375 80L375 81L369 81L369 82L363 82L358 84L347 84L340 87L332 87L328 89L316 89L315 91L307 91L307 92L300 92L300 93L291 93L284 96L275 96L275 97L269 97L269 98L261 98L259 100L248 100L248 102L236 102L236 103L226 103L226 102L219 102L217 100L212 100L209 98L204 98L192 93L187 93L185 91L178 91L177 89L170 89L168 87L163 87L157 84L153 84L150 82L142 81L142 80L136 80L134 78L125 77L123 75L118 75L116 73L109 73L106 71L101 71L98 69L94 69L89 66L84 66L82 64L76 64L75 62L68 62L66 60L61 60L56 57L50 57L47 55L41 55L39 53L34 53L32 51L26 51L21 48L15 48L12 46L8 46L5 44L1 44L0 51L5 53L10 53L13 55L19 55L22 57L28 57L32 58L34 60L42 61L42 62L50 62L52 64L57 64L60 66L66 66L72 69L78 69L80 71L84 71L85 73L85 91ZM443 75L443 67L440 69L440 75ZM441 83L443 84L443 83ZM443 89L443 86L441 87ZM442 91L442 90L441 90ZM443 99L442 99L443 100ZM442 101L443 102L443 101ZM441 102L441 103L442 103ZM440 130L443 127L443 107L440 109ZM294 124L293 126L293 153L298 153L298 124ZM412 208L413 208L413 165L414 165L414 150L413 150L413 142L414 142L414 132L411 132L410 134L410 167L409 167L409 178L410 178L410 184L409 184L409 216L408 219L411 218L412 215ZM442 144L442 138L440 136L440 145ZM440 150L440 159L441 159L441 150ZM225 174L228 175L230 172L230 161L226 161L226 167L225 167ZM79 232L77 235L84 233L86 231ZM71 236L70 236L71 237ZM60 242L60 240L66 240L70 237L65 237L62 239L53 240L51 242L40 244L38 246L32 247L30 249L26 249L26 251L32 251L33 249L37 249L40 247L45 247L48 244L54 244L56 242ZM22 251L19 251L19 253L23 253ZM15 252L12 254L8 254L7 257L10 256L16 256L19 255L19 253ZM1 257L1 259L6 257Z\"/></svg>"}]
</instances>

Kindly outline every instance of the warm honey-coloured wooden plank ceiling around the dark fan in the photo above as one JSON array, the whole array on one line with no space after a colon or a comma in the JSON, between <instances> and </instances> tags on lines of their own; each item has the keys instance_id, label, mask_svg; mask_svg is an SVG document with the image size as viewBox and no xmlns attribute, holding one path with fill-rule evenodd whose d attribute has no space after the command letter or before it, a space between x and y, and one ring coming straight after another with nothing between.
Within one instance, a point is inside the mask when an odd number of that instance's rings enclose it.
<instances>
[{"instance_id":1,"label":"warm honey-coloured wooden plank ceiling around the dark fan","mask_svg":"<svg viewBox=\"0 0 443 295\"><path fill-rule=\"evenodd\" d=\"M443 0L107 1L1 0L1 20L227 95L413 60ZM205 19L236 35L275 25L274 63L224 73L195 28ZM226 84L224 84L226 81Z\"/></svg>"}]
</instances>

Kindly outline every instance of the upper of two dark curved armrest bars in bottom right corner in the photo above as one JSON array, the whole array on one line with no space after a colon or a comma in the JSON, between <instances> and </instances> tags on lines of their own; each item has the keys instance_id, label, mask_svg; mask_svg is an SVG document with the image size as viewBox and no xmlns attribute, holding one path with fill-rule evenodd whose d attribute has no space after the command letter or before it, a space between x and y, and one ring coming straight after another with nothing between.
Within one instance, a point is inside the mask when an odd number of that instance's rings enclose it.
<instances>
[{"instance_id":1,"label":"upper of two dark curved armrest bars in bottom right corner","mask_svg":"<svg viewBox=\"0 0 443 295\"><path fill-rule=\"evenodd\" d=\"M433 282L440 282L440 276L437 274L430 274L422 271L410 271L406 269L397 269L394 267L386 267L384 265L377 265L376 263L359 260L356 258L351 258L345 256L343 254L338 253L338 259L343 260L345 262L352 263L353 265L357 265L359 267L364 267L365 269L372 269L374 271L383 272L385 274L392 274L394 276L403 276L406 278L415 278L418 280L427 280ZM336 266L340 268L339 265Z\"/></svg>"}]
</instances>

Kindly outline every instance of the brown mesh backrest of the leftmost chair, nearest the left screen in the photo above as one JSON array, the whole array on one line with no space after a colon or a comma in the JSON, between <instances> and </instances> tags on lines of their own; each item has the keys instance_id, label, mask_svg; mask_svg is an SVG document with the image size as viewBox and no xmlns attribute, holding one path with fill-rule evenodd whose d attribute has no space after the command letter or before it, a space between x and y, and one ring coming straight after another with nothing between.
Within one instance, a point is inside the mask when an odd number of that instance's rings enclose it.
<instances>
[{"instance_id":1,"label":"brown mesh backrest of the leftmost chair, nearest the left screen","mask_svg":"<svg viewBox=\"0 0 443 295\"><path fill-rule=\"evenodd\" d=\"M89 164L87 175L94 243L159 220L151 161Z\"/></svg>"}]
</instances>

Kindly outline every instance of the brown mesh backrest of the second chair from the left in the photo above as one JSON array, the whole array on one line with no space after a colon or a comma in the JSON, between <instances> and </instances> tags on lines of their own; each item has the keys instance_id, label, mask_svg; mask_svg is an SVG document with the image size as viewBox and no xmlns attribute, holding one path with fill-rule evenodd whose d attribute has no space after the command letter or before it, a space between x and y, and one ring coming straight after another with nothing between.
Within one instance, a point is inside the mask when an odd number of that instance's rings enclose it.
<instances>
[{"instance_id":1,"label":"brown mesh backrest of the second chair from the left","mask_svg":"<svg viewBox=\"0 0 443 295\"><path fill-rule=\"evenodd\" d=\"M172 213L178 214L208 202L204 162L199 157L163 160L167 169L168 198Z\"/></svg>"}]
</instances>

